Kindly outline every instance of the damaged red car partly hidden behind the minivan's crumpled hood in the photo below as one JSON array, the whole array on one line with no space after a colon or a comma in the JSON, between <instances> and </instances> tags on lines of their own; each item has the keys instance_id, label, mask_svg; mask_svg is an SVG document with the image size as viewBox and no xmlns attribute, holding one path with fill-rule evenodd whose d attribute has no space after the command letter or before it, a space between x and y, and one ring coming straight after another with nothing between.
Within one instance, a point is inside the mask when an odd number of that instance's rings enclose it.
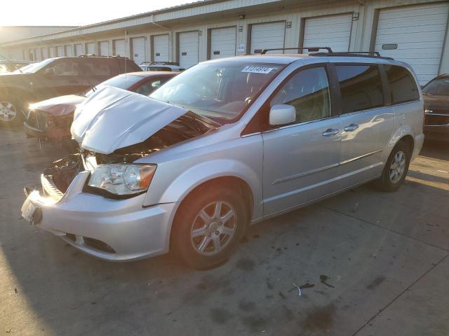
<instances>
[{"instance_id":1,"label":"damaged red car partly hidden behind the minivan's crumpled hood","mask_svg":"<svg viewBox=\"0 0 449 336\"><path fill-rule=\"evenodd\" d=\"M176 75L177 73L168 71L123 73L105 80L85 92L30 104L23 123L25 132L27 137L36 137L39 141L51 141L57 147L70 145L72 144L70 126L76 106L99 88L119 87L148 96Z\"/></svg>"}]
</instances>

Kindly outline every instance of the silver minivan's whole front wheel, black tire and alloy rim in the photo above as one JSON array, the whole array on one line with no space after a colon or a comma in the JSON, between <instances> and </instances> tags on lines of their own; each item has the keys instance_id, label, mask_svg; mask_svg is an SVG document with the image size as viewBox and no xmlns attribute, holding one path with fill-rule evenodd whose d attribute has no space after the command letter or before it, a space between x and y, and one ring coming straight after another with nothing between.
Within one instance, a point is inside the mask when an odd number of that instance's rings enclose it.
<instances>
[{"instance_id":1,"label":"silver minivan's whole front wheel, black tire and alloy rim","mask_svg":"<svg viewBox=\"0 0 449 336\"><path fill-rule=\"evenodd\" d=\"M243 237L248 214L238 188L200 187L182 202L173 223L172 244L195 269L225 262Z\"/></svg>"}]
</instances>

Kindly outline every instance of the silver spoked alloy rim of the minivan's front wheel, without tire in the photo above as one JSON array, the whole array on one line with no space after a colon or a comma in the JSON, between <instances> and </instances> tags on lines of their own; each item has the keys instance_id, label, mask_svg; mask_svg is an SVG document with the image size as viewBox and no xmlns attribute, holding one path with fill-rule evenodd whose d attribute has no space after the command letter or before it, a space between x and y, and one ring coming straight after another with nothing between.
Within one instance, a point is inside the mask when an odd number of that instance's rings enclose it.
<instances>
[{"instance_id":1,"label":"silver spoked alloy rim of the minivan's front wheel, without tire","mask_svg":"<svg viewBox=\"0 0 449 336\"><path fill-rule=\"evenodd\" d=\"M212 202L199 211L192 223L192 246L201 255L220 253L232 241L236 225L236 211L231 204Z\"/></svg>"}]
</instances>

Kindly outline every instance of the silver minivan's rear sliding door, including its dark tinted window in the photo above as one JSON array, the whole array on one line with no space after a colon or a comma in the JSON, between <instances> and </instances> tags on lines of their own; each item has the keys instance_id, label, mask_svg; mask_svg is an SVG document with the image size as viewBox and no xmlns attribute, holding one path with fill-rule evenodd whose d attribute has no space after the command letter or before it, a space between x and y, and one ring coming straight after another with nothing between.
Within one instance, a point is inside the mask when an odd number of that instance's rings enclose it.
<instances>
[{"instance_id":1,"label":"silver minivan's rear sliding door, including its dark tinted window","mask_svg":"<svg viewBox=\"0 0 449 336\"><path fill-rule=\"evenodd\" d=\"M342 102L341 187L382 172L382 151L394 128L394 111L385 106L380 69L375 64L336 64Z\"/></svg>"}]
</instances>

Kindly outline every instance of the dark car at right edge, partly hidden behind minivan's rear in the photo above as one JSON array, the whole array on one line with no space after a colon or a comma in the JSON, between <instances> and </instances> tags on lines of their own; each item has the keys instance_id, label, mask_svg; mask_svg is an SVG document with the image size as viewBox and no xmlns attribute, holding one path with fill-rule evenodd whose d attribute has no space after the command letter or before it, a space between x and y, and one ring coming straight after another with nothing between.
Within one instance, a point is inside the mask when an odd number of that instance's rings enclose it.
<instances>
[{"instance_id":1,"label":"dark car at right edge, partly hidden behind minivan's rear","mask_svg":"<svg viewBox=\"0 0 449 336\"><path fill-rule=\"evenodd\" d=\"M449 141L449 74L431 80L422 88L426 139Z\"/></svg>"}]
</instances>

